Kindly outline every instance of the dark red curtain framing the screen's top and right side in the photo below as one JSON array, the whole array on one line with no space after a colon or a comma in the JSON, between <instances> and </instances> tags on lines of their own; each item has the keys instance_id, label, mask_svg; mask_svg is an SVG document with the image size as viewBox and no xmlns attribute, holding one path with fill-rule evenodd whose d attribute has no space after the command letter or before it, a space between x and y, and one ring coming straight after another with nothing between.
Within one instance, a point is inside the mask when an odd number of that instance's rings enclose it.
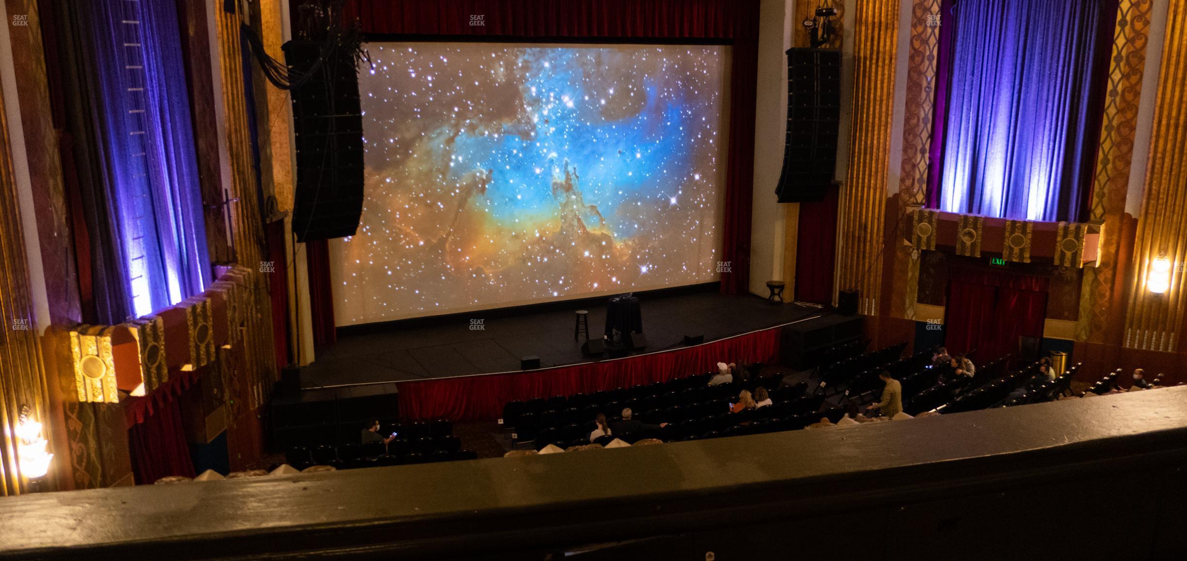
<instances>
[{"instance_id":1,"label":"dark red curtain framing the screen's top and right side","mask_svg":"<svg viewBox=\"0 0 1187 561\"><path fill-rule=\"evenodd\" d=\"M298 13L293 0L293 12ZM482 25L471 25L474 17ZM758 75L755 0L350 0L345 20L364 33L500 39L683 39L732 44L721 291L749 291L754 121ZM294 24L298 28L300 23Z\"/></svg>"}]
</instances>

